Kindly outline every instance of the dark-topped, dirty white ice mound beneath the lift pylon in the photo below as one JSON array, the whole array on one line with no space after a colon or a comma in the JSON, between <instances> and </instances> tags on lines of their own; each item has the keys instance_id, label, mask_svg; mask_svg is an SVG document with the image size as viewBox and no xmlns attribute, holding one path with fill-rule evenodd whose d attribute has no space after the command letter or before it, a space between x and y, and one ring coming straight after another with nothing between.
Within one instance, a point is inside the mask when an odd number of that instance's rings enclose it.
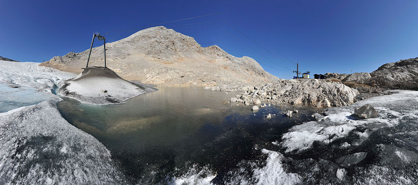
<instances>
[{"instance_id":1,"label":"dark-topped, dirty white ice mound beneath the lift pylon","mask_svg":"<svg viewBox=\"0 0 418 185\"><path fill-rule=\"evenodd\" d=\"M105 67L88 67L74 79L60 83L59 94L91 105L119 104L146 93L146 87L120 78Z\"/></svg>"}]
</instances>

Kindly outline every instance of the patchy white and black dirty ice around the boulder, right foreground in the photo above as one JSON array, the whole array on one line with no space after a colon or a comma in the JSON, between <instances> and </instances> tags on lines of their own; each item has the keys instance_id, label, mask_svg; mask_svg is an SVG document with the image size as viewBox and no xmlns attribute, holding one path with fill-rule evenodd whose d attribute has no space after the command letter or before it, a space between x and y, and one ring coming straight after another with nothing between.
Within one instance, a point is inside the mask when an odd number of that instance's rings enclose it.
<instances>
[{"instance_id":1,"label":"patchy white and black dirty ice around the boulder, right foreground","mask_svg":"<svg viewBox=\"0 0 418 185\"><path fill-rule=\"evenodd\" d=\"M365 104L374 106L378 116L352 115ZM299 166L307 184L418 183L418 91L393 91L351 106L328 108L315 118L272 142L299 159L292 165Z\"/></svg>"}]
</instances>

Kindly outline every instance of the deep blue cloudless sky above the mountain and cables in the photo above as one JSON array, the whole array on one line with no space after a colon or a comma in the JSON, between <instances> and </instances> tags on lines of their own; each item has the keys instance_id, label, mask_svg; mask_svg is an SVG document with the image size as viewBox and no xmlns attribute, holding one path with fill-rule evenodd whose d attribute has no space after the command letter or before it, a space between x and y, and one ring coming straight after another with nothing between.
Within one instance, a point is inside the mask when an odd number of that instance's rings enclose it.
<instances>
[{"instance_id":1,"label":"deep blue cloudless sky above the mountain and cables","mask_svg":"<svg viewBox=\"0 0 418 185\"><path fill-rule=\"evenodd\" d=\"M224 14L163 26L285 79L296 65L274 50L311 74L372 72L418 56L417 0L0 0L0 8L0 56L20 61L82 52L94 31L111 31L113 42L134 33L123 30L216 12ZM214 23L178 26L202 22Z\"/></svg>"}]
</instances>

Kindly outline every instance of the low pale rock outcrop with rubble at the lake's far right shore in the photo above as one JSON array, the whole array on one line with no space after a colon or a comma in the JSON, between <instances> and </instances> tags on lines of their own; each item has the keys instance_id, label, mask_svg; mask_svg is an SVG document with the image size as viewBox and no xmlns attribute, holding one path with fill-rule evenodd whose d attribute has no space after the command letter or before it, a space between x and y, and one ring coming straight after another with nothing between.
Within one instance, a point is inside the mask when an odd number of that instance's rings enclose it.
<instances>
[{"instance_id":1,"label":"low pale rock outcrop with rubble at the lake's far right shore","mask_svg":"<svg viewBox=\"0 0 418 185\"><path fill-rule=\"evenodd\" d=\"M242 103L258 101L278 104L301 104L316 107L348 106L353 104L358 91L340 82L318 79L289 79L261 88L254 87L236 98Z\"/></svg>"}]
</instances>

